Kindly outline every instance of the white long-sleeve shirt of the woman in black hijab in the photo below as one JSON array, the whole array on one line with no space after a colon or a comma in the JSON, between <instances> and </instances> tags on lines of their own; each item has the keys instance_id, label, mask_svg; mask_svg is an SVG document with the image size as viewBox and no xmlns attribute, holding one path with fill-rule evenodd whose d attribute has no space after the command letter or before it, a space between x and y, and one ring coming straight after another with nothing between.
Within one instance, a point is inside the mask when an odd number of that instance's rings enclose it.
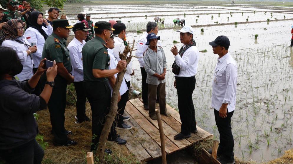
<instances>
[{"instance_id":1,"label":"white long-sleeve shirt of the woman in black hijab","mask_svg":"<svg viewBox=\"0 0 293 164\"><path fill-rule=\"evenodd\" d=\"M47 28L42 26L42 29L47 33L48 36L53 32L53 27L50 25L50 23ZM27 30L24 32L24 35L26 36L29 45L31 43L37 44L38 50L35 53L32 53L34 59L34 68L37 68L42 60L45 38L37 29L32 27L27 28Z\"/></svg>"}]
</instances>

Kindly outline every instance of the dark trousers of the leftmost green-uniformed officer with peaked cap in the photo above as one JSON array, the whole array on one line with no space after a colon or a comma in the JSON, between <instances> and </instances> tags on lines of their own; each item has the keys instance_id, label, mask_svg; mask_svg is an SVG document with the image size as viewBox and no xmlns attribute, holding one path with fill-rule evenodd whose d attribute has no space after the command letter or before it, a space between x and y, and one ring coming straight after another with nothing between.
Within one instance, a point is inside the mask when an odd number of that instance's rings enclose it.
<instances>
[{"instance_id":1,"label":"dark trousers of the leftmost green-uniformed officer with peaked cap","mask_svg":"<svg viewBox=\"0 0 293 164\"><path fill-rule=\"evenodd\" d=\"M54 81L55 86L48 102L52 134L54 135L53 142L64 144L69 140L64 127L67 81L60 75L57 75ZM43 86L45 86L45 82L42 82Z\"/></svg>"}]
</instances>

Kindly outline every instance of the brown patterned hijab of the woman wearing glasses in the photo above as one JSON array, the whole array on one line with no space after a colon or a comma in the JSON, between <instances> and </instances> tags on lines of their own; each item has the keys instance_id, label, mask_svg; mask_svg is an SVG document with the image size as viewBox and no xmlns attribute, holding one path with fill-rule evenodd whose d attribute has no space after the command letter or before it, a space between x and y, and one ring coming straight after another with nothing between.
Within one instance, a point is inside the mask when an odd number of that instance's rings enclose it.
<instances>
[{"instance_id":1,"label":"brown patterned hijab of the woman wearing glasses","mask_svg":"<svg viewBox=\"0 0 293 164\"><path fill-rule=\"evenodd\" d=\"M1 44L4 40L17 40L20 38L20 36L17 35L17 23L19 22L23 26L22 20L19 19L11 19L2 26L4 35L0 38Z\"/></svg>"}]
</instances>

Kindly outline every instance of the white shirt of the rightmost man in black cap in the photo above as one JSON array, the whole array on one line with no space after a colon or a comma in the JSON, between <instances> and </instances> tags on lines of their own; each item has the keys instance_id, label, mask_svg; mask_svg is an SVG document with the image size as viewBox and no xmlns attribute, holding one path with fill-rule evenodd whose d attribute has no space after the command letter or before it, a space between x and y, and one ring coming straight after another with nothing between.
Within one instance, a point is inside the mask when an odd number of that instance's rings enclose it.
<instances>
[{"instance_id":1,"label":"white shirt of the rightmost man in black cap","mask_svg":"<svg viewBox=\"0 0 293 164\"><path fill-rule=\"evenodd\" d=\"M237 65L230 53L218 58L212 91L212 107L217 111L228 104L228 112L235 110Z\"/></svg>"}]
</instances>

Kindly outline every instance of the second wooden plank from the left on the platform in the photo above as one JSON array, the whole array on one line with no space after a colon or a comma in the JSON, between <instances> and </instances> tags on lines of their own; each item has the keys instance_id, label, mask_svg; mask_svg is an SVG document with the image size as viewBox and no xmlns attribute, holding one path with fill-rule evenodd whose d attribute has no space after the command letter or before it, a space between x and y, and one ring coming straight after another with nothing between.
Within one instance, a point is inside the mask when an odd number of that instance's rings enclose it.
<instances>
[{"instance_id":1,"label":"second wooden plank from the left on the platform","mask_svg":"<svg viewBox=\"0 0 293 164\"><path fill-rule=\"evenodd\" d=\"M159 129L152 125L138 110L131 110L127 108L125 108L125 110L135 119L139 126L154 139L157 144L161 145ZM165 144L167 154L179 150L178 146L176 146L167 137L165 137Z\"/></svg>"}]
</instances>

